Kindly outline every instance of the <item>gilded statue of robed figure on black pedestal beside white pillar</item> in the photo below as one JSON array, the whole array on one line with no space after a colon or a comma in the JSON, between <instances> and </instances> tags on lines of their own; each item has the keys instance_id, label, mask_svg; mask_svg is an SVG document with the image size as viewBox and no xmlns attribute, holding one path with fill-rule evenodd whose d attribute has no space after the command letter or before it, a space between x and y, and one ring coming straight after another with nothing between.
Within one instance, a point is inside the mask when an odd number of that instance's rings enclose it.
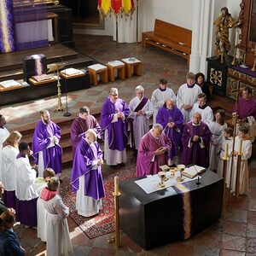
<instances>
[{"instance_id":1,"label":"gilded statue of robed figure on black pedestal beside white pillar","mask_svg":"<svg viewBox=\"0 0 256 256\"><path fill-rule=\"evenodd\" d=\"M216 48L215 59L220 60L220 63L225 62L225 56L228 54L231 48L229 40L229 29L237 26L237 22L232 18L229 10L224 7L221 10L221 15L213 22L216 26Z\"/></svg>"}]
</instances>

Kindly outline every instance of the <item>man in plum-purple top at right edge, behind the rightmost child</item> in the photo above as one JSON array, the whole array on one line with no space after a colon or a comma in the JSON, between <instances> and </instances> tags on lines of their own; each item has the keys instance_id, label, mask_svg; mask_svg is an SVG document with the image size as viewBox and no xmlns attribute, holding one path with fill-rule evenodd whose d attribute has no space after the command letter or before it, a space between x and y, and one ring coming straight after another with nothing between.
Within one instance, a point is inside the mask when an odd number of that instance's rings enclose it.
<instances>
[{"instance_id":1,"label":"man in plum-purple top at right edge, behind the rightmost child","mask_svg":"<svg viewBox=\"0 0 256 256\"><path fill-rule=\"evenodd\" d=\"M240 120L239 125L237 125L237 131L239 126L247 123L250 128L248 136L253 143L256 136L256 100L253 98L251 87L246 86L242 90L242 96L238 100L238 105L237 107L235 105L232 110L233 114L237 113L237 118Z\"/></svg>"}]
</instances>

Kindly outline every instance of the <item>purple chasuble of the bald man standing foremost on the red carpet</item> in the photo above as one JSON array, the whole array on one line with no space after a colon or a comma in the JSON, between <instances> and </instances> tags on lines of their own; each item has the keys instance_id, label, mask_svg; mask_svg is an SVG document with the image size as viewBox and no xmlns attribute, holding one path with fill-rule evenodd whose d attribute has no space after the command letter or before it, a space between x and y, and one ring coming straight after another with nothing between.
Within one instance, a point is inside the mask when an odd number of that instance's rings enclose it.
<instances>
[{"instance_id":1,"label":"purple chasuble of the bald man standing foremost on the red carpet","mask_svg":"<svg viewBox=\"0 0 256 256\"><path fill-rule=\"evenodd\" d=\"M79 189L79 177L84 175L84 195L90 196L95 200L105 197L105 190L102 179L102 167L97 166L92 170L93 160L102 159L102 150L99 143L89 145L82 139L77 147L73 160L73 170L70 178L72 191Z\"/></svg>"}]
</instances>

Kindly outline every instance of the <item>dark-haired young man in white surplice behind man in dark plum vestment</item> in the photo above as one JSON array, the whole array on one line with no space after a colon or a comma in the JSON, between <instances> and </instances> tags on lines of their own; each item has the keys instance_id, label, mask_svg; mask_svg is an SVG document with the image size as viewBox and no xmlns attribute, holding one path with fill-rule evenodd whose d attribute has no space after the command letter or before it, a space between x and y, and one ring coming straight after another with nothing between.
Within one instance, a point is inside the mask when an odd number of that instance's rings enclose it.
<instances>
[{"instance_id":1,"label":"dark-haired young man in white surplice behind man in dark plum vestment","mask_svg":"<svg viewBox=\"0 0 256 256\"><path fill-rule=\"evenodd\" d=\"M197 96L197 102L193 105L189 113L189 119L192 120L195 112L201 113L201 120L209 126L213 119L213 112L212 108L207 105L207 95L205 93L200 93Z\"/></svg>"}]
</instances>

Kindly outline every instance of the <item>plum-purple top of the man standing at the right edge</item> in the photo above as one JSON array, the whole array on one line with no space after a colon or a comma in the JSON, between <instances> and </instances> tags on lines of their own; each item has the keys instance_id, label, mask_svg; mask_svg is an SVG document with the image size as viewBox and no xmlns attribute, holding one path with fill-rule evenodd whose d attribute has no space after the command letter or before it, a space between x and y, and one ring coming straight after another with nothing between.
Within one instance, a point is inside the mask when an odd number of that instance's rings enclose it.
<instances>
[{"instance_id":1,"label":"plum-purple top of the man standing at the right edge","mask_svg":"<svg viewBox=\"0 0 256 256\"><path fill-rule=\"evenodd\" d=\"M236 105L233 106L233 112L236 112ZM238 117L244 119L247 116L253 116L256 119L256 100L251 98L245 100L244 98L239 98L238 108L237 108Z\"/></svg>"}]
</instances>

